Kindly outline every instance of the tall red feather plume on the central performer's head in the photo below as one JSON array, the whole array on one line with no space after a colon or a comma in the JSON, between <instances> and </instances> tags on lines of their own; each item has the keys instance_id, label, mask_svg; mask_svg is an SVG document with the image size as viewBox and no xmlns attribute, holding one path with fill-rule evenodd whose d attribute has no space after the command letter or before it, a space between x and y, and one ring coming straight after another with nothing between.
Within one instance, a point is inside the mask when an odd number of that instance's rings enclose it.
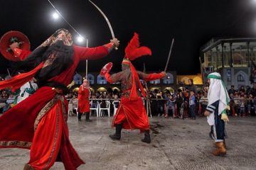
<instances>
[{"instance_id":1,"label":"tall red feather plume on the central performer's head","mask_svg":"<svg viewBox=\"0 0 256 170\"><path fill-rule=\"evenodd\" d=\"M151 50L149 47L139 47L139 35L134 33L132 40L130 40L125 48L124 59L132 61L137 59L137 57L142 57L143 55L151 55Z\"/></svg>"}]
</instances>

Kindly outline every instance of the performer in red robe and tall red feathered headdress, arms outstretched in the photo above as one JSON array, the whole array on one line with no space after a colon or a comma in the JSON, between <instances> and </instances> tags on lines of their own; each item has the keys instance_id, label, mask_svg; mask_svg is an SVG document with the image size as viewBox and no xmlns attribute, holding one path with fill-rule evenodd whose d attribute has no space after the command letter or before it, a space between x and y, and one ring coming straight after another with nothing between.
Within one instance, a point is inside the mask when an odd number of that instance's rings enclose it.
<instances>
[{"instance_id":1,"label":"performer in red robe and tall red feathered headdress, arms outstretched","mask_svg":"<svg viewBox=\"0 0 256 170\"><path fill-rule=\"evenodd\" d=\"M117 113L114 116L112 126L116 127L114 135L110 135L112 140L120 140L121 130L139 129L144 132L144 139L142 142L150 143L149 135L149 120L146 110L143 105L142 96L145 97L145 91L139 79L151 81L154 79L161 79L166 76L165 72L159 74L144 74L137 71L131 60L141 57L142 55L151 55L151 50L148 47L139 47L139 35L134 33L134 37L129 42L125 49L124 60L122 61L122 72L110 75L108 72L105 78L108 82L121 82L122 97Z\"/></svg>"}]
</instances>

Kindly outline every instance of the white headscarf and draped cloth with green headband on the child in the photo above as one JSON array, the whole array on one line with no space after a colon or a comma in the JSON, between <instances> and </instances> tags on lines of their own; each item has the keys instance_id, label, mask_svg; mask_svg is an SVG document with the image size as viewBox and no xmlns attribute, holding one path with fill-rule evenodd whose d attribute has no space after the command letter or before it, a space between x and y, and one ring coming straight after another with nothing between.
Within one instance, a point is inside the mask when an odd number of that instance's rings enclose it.
<instances>
[{"instance_id":1,"label":"white headscarf and draped cloth with green headband on the child","mask_svg":"<svg viewBox=\"0 0 256 170\"><path fill-rule=\"evenodd\" d=\"M221 80L220 74L213 72L208 74L207 78L210 79L210 87L207 96L208 106L215 103L215 101L219 101L218 115L226 113L227 109L229 109L230 98ZM214 125L214 114L208 116L208 123L209 125Z\"/></svg>"}]
</instances>

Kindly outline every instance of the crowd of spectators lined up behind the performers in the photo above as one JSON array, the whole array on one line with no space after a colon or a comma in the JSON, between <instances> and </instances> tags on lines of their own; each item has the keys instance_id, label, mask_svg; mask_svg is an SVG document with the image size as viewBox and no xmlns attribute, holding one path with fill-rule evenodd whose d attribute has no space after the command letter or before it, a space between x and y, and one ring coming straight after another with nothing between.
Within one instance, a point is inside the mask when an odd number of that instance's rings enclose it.
<instances>
[{"instance_id":1,"label":"crowd of spectators lined up behind the performers","mask_svg":"<svg viewBox=\"0 0 256 170\"><path fill-rule=\"evenodd\" d=\"M170 91L159 91L159 89L154 89L153 91L148 91L148 98L142 98L144 100L144 106L149 105L149 113L151 116L162 116L164 118L191 118L196 119L197 117L203 117L204 111L208 106L208 84L203 86L203 88L198 89L193 85L193 80L188 80L188 86L183 87L183 89L176 89L174 93ZM228 115L234 117L245 117L247 115L256 115L256 84L252 88L250 86L240 86L239 89L228 89L228 94L230 96L230 111ZM73 107L77 107L78 94L75 92L70 92L68 98L72 98ZM101 108L105 108L105 101L119 101L120 96L122 96L122 91L114 91L109 88L107 91L96 91L91 94L90 101L91 108L97 108L97 104ZM146 102L146 101L149 101ZM116 108L119 103L115 103ZM74 110L75 113L75 110ZM93 111L92 115L96 115ZM107 115L107 112L103 113ZM110 105L110 115L114 115L114 106Z\"/></svg>"}]
</instances>

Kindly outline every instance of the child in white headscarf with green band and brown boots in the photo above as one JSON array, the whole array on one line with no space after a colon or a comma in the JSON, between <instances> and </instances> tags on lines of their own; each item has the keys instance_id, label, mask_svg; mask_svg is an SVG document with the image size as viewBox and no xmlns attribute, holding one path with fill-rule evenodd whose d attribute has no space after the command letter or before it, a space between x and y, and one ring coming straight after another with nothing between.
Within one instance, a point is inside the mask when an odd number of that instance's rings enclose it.
<instances>
[{"instance_id":1,"label":"child in white headscarf with green band and brown boots","mask_svg":"<svg viewBox=\"0 0 256 170\"><path fill-rule=\"evenodd\" d=\"M220 156L226 154L225 149L225 122L228 121L227 110L229 110L230 98L228 91L225 89L220 74L213 72L208 74L208 106L205 111L208 124L213 126L215 137L215 146L217 149L213 151L213 155Z\"/></svg>"}]
</instances>

